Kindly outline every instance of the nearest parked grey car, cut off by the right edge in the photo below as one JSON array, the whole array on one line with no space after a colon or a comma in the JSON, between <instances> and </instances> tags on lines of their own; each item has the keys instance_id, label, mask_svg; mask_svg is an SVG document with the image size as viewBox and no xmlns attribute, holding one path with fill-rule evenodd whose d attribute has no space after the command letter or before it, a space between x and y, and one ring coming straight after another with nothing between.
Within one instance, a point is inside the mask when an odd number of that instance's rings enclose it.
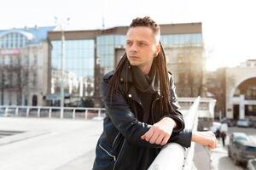
<instances>
[{"instance_id":1,"label":"nearest parked grey car, cut off by the right edge","mask_svg":"<svg viewBox=\"0 0 256 170\"><path fill-rule=\"evenodd\" d=\"M235 164L247 163L249 159L256 157L256 144L253 143L246 133L231 133L228 155Z\"/></svg>"}]
</instances>

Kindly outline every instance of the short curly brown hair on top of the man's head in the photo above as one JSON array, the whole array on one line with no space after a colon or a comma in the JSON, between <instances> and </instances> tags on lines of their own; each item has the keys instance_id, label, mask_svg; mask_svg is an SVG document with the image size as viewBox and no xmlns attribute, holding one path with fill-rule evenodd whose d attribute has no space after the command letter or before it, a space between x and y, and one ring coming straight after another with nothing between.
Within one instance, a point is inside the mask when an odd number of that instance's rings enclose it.
<instances>
[{"instance_id":1,"label":"short curly brown hair on top of the man's head","mask_svg":"<svg viewBox=\"0 0 256 170\"><path fill-rule=\"evenodd\" d=\"M132 20L130 28L137 26L146 26L151 28L155 36L155 41L160 42L160 26L149 16L145 16L143 18L137 17L136 19Z\"/></svg>"}]
</instances>

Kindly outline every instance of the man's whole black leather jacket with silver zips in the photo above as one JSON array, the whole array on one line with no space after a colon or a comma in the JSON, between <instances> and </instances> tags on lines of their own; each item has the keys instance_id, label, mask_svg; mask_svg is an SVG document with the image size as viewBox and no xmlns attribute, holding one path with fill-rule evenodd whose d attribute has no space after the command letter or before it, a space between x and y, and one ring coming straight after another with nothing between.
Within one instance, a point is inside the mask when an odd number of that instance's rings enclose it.
<instances>
[{"instance_id":1,"label":"man's whole black leather jacket with silver zips","mask_svg":"<svg viewBox=\"0 0 256 170\"><path fill-rule=\"evenodd\" d=\"M137 120L138 111L143 111L141 101L137 96L134 86L129 88L126 94L123 90L123 79L120 78L119 90L112 96L112 101L107 95L107 87L113 71L103 77L102 94L107 110L103 122L103 132L96 144L96 159L93 165L94 170L109 169L147 169L160 149L160 144L150 144L141 136L148 131L151 125ZM128 80L129 82L129 77ZM172 77L171 96L172 107L176 114L167 115L177 122L177 128L173 129L172 136L168 143L176 142L189 147L191 143L191 132L183 130L184 122L182 114L177 110L177 95ZM155 94L152 112L159 110L160 95ZM164 116L155 114L154 122L159 122ZM166 115L165 115L166 116Z\"/></svg>"}]
</instances>

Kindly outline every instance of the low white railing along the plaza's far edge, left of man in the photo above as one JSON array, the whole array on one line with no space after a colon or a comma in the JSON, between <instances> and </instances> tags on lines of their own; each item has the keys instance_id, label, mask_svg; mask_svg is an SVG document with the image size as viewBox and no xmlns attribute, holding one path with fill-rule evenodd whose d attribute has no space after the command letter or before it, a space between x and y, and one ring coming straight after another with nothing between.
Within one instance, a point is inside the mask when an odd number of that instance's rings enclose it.
<instances>
[{"instance_id":1,"label":"low white railing along the plaza's far edge, left of man","mask_svg":"<svg viewBox=\"0 0 256 170\"><path fill-rule=\"evenodd\" d=\"M92 117L102 120L104 108L90 107L50 107L50 106L24 106L24 105L0 105L0 116L26 116L49 118L84 118Z\"/></svg>"}]
</instances>

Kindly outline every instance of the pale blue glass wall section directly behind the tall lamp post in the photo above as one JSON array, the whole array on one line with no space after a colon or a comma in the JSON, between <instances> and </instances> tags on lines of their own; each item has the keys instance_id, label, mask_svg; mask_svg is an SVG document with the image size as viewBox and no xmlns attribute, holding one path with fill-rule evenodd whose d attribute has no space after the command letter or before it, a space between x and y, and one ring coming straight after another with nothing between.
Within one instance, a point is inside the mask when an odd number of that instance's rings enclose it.
<instances>
[{"instance_id":1,"label":"pale blue glass wall section directly behind the tall lamp post","mask_svg":"<svg viewBox=\"0 0 256 170\"><path fill-rule=\"evenodd\" d=\"M51 94L61 91L61 41L51 41ZM84 96L93 95L95 41L65 41L64 91L69 96L66 105L81 105ZM59 103L52 103L59 105Z\"/></svg>"}]
</instances>

